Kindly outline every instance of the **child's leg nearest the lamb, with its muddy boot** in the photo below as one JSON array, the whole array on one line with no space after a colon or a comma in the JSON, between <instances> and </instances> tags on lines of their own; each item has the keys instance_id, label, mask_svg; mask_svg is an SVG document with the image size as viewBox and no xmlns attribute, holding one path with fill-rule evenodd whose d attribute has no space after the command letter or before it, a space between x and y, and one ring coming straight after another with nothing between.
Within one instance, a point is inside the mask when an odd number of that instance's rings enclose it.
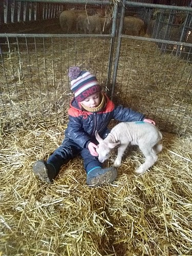
<instances>
[{"instance_id":1,"label":"child's leg nearest the lamb, with its muddy boot","mask_svg":"<svg viewBox=\"0 0 192 256\"><path fill-rule=\"evenodd\" d=\"M115 167L103 168L97 157L91 155L87 148L81 151L84 160L84 169L87 173L87 184L99 186L103 183L111 183L117 178Z\"/></svg>"}]
</instances>

